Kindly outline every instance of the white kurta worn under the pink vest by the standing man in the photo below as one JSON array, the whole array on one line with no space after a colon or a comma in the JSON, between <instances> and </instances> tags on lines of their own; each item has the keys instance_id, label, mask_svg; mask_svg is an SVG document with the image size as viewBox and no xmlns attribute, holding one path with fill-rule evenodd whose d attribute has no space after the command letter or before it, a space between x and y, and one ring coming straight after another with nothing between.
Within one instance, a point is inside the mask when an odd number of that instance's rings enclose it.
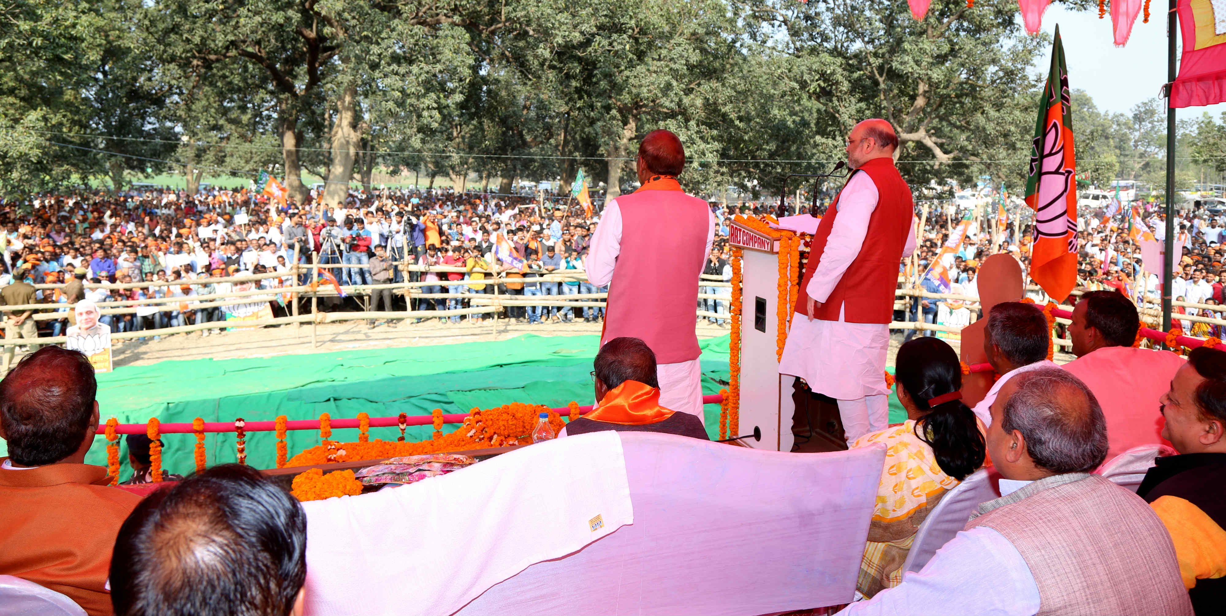
<instances>
[{"instance_id":1,"label":"white kurta worn under the pink vest by the standing man","mask_svg":"<svg viewBox=\"0 0 1226 616\"><path fill-rule=\"evenodd\" d=\"M715 214L707 213L706 247L702 258L711 254L715 241ZM592 233L592 240L584 258L587 280L597 287L604 287L613 279L613 267L622 252L622 208L617 200L609 201L601 214L601 223ZM696 284L696 282L695 282ZM695 311L698 306L695 306ZM698 316L695 315L695 321ZM602 340L603 342L603 340ZM698 359L677 364L656 366L656 378L660 381L660 405L666 409L680 410L696 415L702 420L702 366ZM705 423L705 420L704 420Z\"/></svg>"}]
</instances>

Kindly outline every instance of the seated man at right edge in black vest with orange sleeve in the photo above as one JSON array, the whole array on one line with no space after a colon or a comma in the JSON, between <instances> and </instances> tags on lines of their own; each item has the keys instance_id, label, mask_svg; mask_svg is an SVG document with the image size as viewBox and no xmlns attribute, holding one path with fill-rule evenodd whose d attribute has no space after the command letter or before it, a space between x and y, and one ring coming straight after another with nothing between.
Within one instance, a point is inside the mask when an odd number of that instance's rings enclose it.
<instances>
[{"instance_id":1,"label":"seated man at right edge in black vest with orange sleeve","mask_svg":"<svg viewBox=\"0 0 1226 616\"><path fill-rule=\"evenodd\" d=\"M1137 495L1162 518L1199 615L1226 605L1226 353L1193 349L1162 396L1162 436L1178 456L1155 460Z\"/></svg>"}]
</instances>

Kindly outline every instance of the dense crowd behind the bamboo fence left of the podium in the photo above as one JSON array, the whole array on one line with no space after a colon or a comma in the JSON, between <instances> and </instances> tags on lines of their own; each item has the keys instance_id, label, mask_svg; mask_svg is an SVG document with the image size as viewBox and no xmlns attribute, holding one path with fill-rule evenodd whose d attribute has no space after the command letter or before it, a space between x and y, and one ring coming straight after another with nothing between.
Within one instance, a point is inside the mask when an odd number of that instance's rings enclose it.
<instances>
[{"instance_id":1,"label":"dense crowd behind the bamboo fence left of the podium","mask_svg":"<svg viewBox=\"0 0 1226 616\"><path fill-rule=\"evenodd\" d=\"M6 207L5 207L6 206ZM752 211L753 205L747 206ZM598 208L597 208L598 209ZM727 282L727 234L731 209L716 208L718 238L705 273ZM291 266L358 266L324 268L342 285L375 285L351 289L349 295L369 294L371 311L455 310L468 307L468 294L497 291L511 299L595 294L582 276L591 235L601 214L574 200L552 196L457 193L449 190L386 189L354 192L341 207L324 207L310 200L298 206L270 201L248 191L211 190L189 196L184 191L142 189L114 195L81 192L45 195L0 206L0 287L11 283L64 284L60 289L18 285L5 304L65 304L47 311L63 318L43 321L11 315L9 336L59 336L72 323L69 304L82 299L115 302L152 298L183 298L175 310L145 307L137 314L103 315L113 332L153 331L181 325L223 321L243 310L208 306L194 296L224 296L234 290L278 289L308 284L310 274ZM401 266L419 266L406 271ZM498 282L489 269L497 267ZM462 268L465 271L430 271ZM566 272L574 273L568 276ZM249 279L250 274L275 274ZM536 280L554 274L547 280ZM192 280L211 279L212 283ZM218 279L234 278L235 282ZM405 280L423 284L407 298L379 288ZM181 283L125 289L92 288L93 284L141 282ZM21 289L20 296L17 289ZM325 290L327 285L325 285ZM704 289L710 295L729 295L726 287ZM446 296L440 296L446 295ZM454 298L452 298L454 296ZM519 296L519 298L516 298ZM284 316L288 294L271 295L273 316ZM208 300L216 301L216 300ZM254 300L257 304L260 300ZM357 307L349 301L348 307ZM246 306L246 305L243 305ZM345 309L332 304L327 309ZM698 309L726 315L726 300L702 299ZM509 306L505 316L516 322L597 322L603 307ZM37 312L37 311L36 311ZM481 315L467 318L481 321ZM709 317L727 323L726 318ZM459 322L461 316L450 316ZM16 323L13 323L16 321ZM374 325L373 322L370 323ZM36 331L36 328L38 331ZM10 329L13 329L10 327ZM206 329L207 333L207 329Z\"/></svg>"}]
</instances>

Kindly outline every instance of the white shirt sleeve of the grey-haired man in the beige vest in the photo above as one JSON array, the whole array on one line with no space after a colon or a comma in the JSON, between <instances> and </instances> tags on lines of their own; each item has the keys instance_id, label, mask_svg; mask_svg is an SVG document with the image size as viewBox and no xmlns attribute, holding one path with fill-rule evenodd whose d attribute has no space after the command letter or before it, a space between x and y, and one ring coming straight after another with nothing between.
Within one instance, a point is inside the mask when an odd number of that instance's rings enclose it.
<instances>
[{"instance_id":1,"label":"white shirt sleeve of the grey-haired man in the beige vest","mask_svg":"<svg viewBox=\"0 0 1226 616\"><path fill-rule=\"evenodd\" d=\"M897 587L839 614L1030 616L1038 606L1038 584L1018 549L1000 533L975 527L954 535L923 569L904 574Z\"/></svg>"}]
</instances>

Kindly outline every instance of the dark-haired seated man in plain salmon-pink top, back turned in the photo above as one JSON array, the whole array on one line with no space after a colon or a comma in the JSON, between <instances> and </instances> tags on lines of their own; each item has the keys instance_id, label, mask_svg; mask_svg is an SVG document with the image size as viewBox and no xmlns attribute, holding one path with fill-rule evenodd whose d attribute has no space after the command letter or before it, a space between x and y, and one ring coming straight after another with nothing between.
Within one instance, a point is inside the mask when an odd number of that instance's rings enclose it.
<instances>
[{"instance_id":1,"label":"dark-haired seated man in plain salmon-pink top, back turned","mask_svg":"<svg viewBox=\"0 0 1226 616\"><path fill-rule=\"evenodd\" d=\"M1154 407L1186 364L1168 350L1134 349L1140 327L1137 306L1116 291L1086 293L1073 309L1069 338L1078 359L1063 367L1102 405L1111 442L1107 459L1138 445L1163 442Z\"/></svg>"}]
</instances>

